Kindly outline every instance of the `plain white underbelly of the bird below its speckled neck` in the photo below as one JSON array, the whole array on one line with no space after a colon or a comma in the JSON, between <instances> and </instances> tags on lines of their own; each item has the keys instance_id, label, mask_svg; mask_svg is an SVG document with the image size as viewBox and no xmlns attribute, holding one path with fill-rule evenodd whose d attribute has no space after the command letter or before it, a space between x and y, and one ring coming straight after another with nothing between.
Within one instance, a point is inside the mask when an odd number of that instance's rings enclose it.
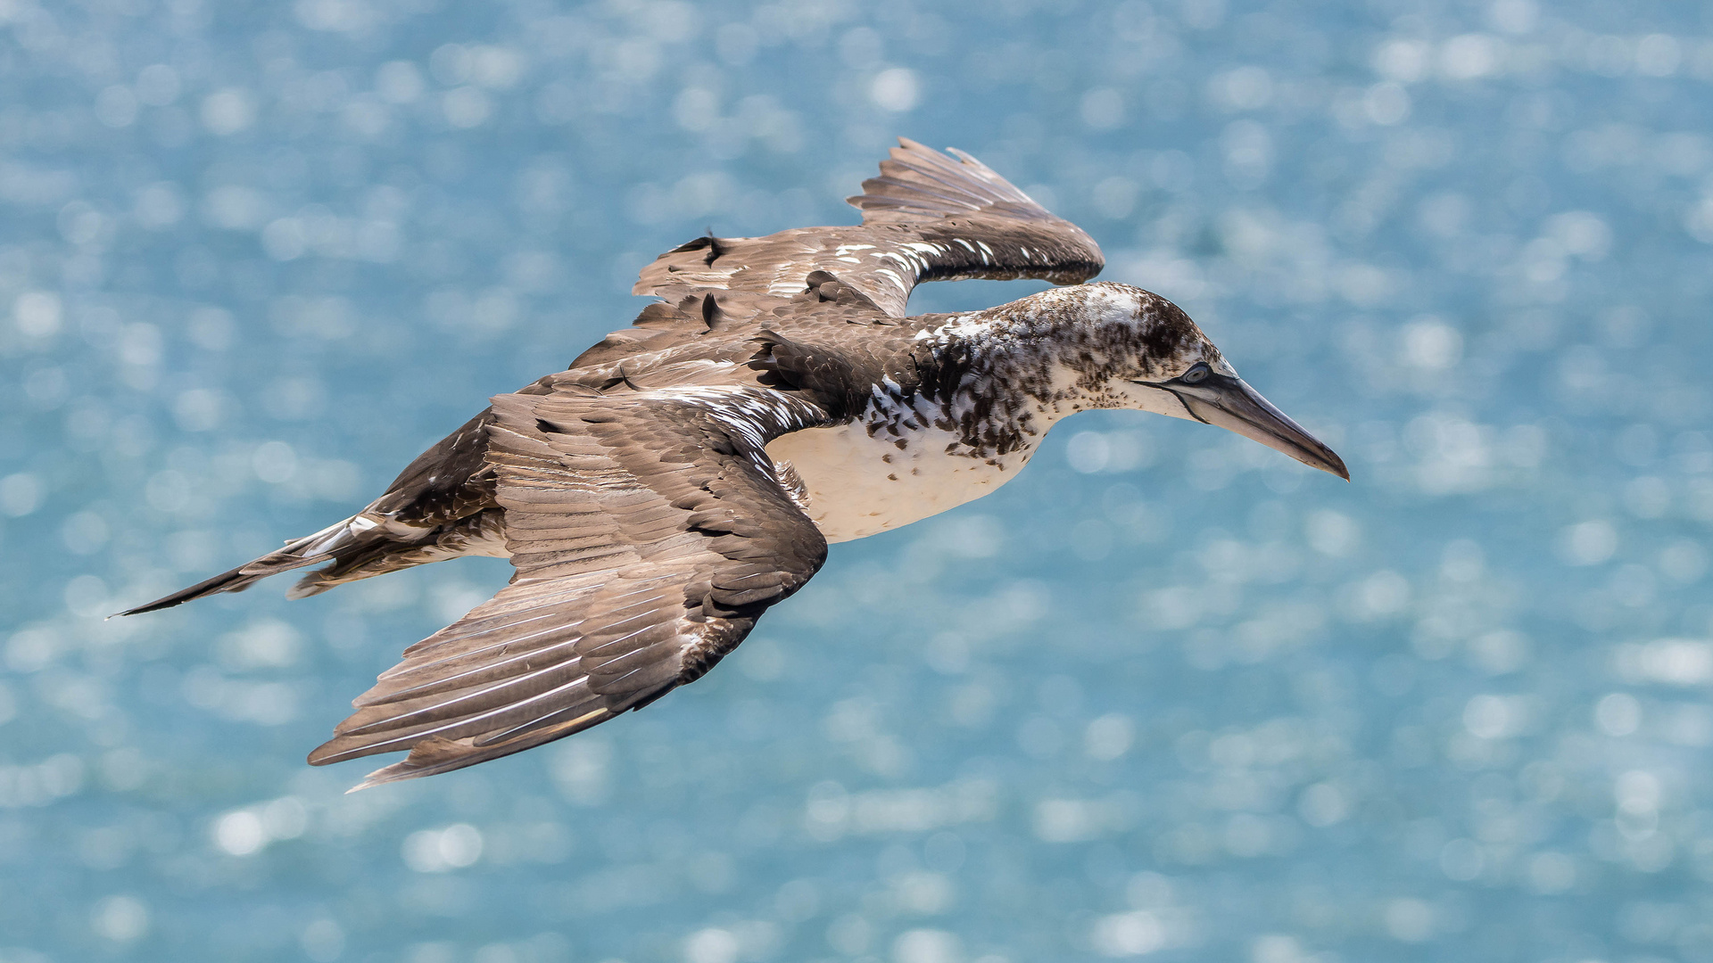
<instances>
[{"instance_id":1,"label":"plain white underbelly of the bird below its speckled neck","mask_svg":"<svg viewBox=\"0 0 1713 963\"><path fill-rule=\"evenodd\" d=\"M961 451L958 435L937 428L910 432L904 447L862 423L805 428L767 444L767 456L790 461L809 492L809 517L827 541L865 538L954 509L994 492L1023 468L1028 452L997 464Z\"/></svg>"}]
</instances>

